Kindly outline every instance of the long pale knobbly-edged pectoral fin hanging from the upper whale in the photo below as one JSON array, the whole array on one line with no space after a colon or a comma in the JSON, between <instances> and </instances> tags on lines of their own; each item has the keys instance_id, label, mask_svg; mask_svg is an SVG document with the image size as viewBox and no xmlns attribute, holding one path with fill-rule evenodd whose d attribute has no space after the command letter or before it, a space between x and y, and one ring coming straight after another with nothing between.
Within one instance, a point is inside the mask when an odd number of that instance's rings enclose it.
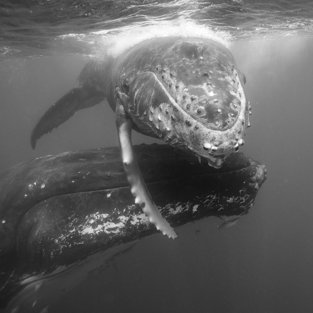
<instances>
[{"instance_id":1,"label":"long pale knobbly-edged pectoral fin hanging from the upper whale","mask_svg":"<svg viewBox=\"0 0 313 313\"><path fill-rule=\"evenodd\" d=\"M116 96L118 96L117 93ZM119 93L119 96L122 98L121 93ZM156 226L156 229L160 230L163 235L175 239L177 238L177 233L175 233L174 229L162 217L162 214L152 201L142 178L131 143L131 130L134 122L124 109L128 104L122 103L123 100L126 99L116 98L115 122L122 152L122 162L131 187L131 193L135 198L135 204L141 207L142 211L149 218L149 221Z\"/></svg>"}]
</instances>

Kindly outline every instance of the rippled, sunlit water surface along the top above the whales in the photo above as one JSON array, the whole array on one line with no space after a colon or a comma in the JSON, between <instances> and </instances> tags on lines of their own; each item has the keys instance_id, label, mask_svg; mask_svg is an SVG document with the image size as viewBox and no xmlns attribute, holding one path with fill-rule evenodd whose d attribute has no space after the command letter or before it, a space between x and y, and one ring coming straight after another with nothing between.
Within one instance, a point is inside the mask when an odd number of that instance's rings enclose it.
<instances>
[{"instance_id":1,"label":"rippled, sunlit water surface along the top above the whales","mask_svg":"<svg viewBox=\"0 0 313 313\"><path fill-rule=\"evenodd\" d=\"M122 37L218 33L230 42L310 37L310 1L2 1L1 55L98 54ZM108 41L108 42L107 42Z\"/></svg>"}]
</instances>

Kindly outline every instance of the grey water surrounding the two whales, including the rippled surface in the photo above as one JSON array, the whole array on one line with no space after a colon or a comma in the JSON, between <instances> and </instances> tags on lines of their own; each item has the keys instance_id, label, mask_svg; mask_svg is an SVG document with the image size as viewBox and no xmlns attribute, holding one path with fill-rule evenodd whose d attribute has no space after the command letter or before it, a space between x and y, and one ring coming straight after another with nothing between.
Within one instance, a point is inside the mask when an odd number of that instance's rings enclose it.
<instances>
[{"instance_id":1,"label":"grey water surrounding the two whales, including the rippled surface","mask_svg":"<svg viewBox=\"0 0 313 313\"><path fill-rule=\"evenodd\" d=\"M64 291L50 313L313 312L312 1L3 1L0 25L0 171L117 146L106 101L77 112L35 151L29 138L90 58L173 34L231 50L253 113L241 151L268 170L236 225L217 229L220 220L206 218L177 228L178 240L145 239ZM133 133L133 142L159 141Z\"/></svg>"}]
</instances>

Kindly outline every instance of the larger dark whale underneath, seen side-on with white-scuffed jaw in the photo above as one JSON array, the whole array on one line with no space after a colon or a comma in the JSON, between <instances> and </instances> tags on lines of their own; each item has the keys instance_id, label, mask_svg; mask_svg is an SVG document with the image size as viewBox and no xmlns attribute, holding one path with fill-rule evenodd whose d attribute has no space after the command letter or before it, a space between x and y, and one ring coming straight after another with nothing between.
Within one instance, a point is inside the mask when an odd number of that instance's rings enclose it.
<instances>
[{"instance_id":1,"label":"larger dark whale underneath, seen side-on with white-scuffed jaw","mask_svg":"<svg viewBox=\"0 0 313 313\"><path fill-rule=\"evenodd\" d=\"M231 226L251 211L266 179L264 165L241 153L216 169L168 145L134 151L175 228L208 216ZM0 173L0 194L0 311L41 312L86 273L157 233L133 203L118 147L25 161Z\"/></svg>"}]
</instances>

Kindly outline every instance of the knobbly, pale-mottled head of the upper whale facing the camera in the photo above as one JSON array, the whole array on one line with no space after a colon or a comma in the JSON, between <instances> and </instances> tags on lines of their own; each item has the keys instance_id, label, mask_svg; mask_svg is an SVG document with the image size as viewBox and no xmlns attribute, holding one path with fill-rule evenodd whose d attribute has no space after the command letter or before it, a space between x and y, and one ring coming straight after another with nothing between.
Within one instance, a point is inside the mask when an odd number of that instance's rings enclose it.
<instances>
[{"instance_id":1,"label":"knobbly, pale-mottled head of the upper whale facing the camera","mask_svg":"<svg viewBox=\"0 0 313 313\"><path fill-rule=\"evenodd\" d=\"M244 144L250 103L230 51L213 40L177 40L130 86L129 114L162 140L219 168Z\"/></svg>"}]
</instances>

